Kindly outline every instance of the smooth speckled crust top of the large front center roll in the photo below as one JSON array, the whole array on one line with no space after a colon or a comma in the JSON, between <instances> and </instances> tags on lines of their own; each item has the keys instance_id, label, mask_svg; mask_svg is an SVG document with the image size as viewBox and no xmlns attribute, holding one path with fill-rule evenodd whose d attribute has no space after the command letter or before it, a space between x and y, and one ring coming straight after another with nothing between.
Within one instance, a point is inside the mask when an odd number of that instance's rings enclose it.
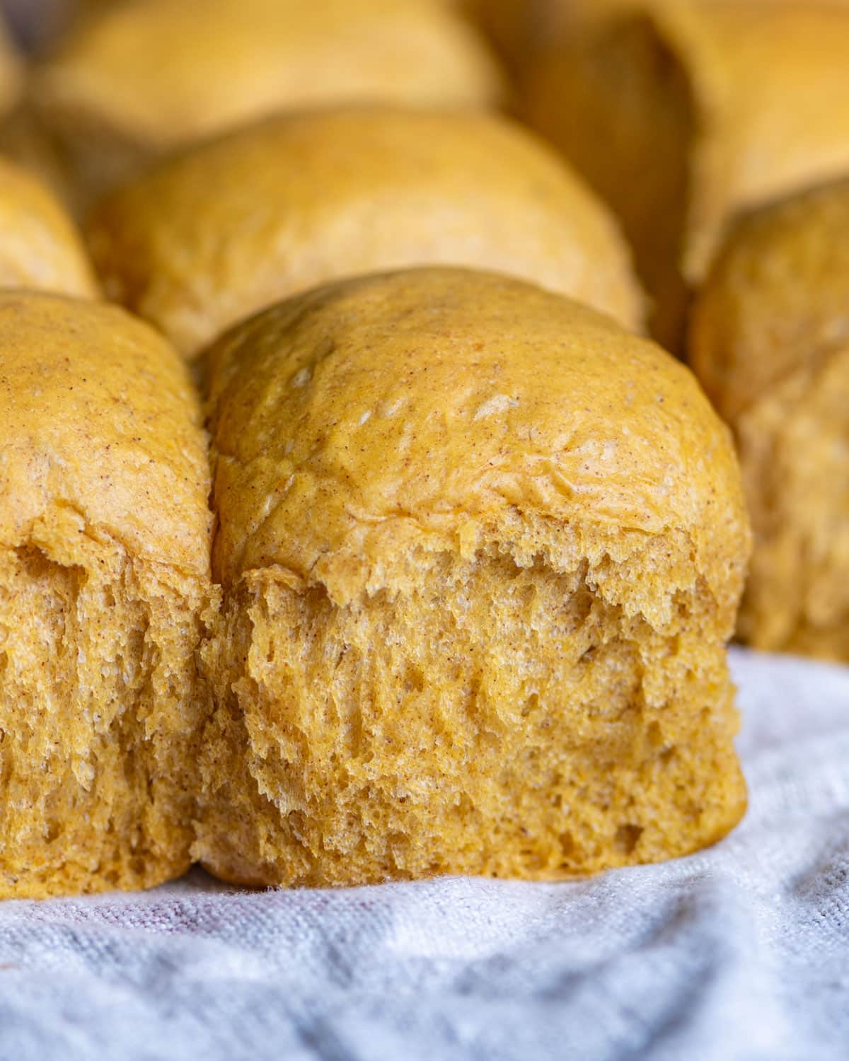
<instances>
[{"instance_id":1,"label":"smooth speckled crust top of the large front center roll","mask_svg":"<svg viewBox=\"0 0 849 1061\"><path fill-rule=\"evenodd\" d=\"M727 429L687 368L576 302L465 269L358 278L235 328L204 369L225 584L278 566L346 596L404 543L473 550L533 516L619 559L681 532L735 599Z\"/></svg>"}]
</instances>

